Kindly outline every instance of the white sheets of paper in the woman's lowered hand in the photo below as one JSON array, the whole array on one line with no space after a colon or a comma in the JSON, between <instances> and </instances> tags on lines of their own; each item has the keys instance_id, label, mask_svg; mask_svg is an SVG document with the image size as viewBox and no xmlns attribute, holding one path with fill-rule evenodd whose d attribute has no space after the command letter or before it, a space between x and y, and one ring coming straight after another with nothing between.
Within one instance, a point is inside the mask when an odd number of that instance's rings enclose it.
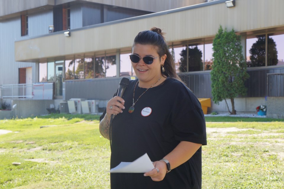
<instances>
[{"instance_id":1,"label":"white sheets of paper in the woman's lowered hand","mask_svg":"<svg viewBox=\"0 0 284 189\"><path fill-rule=\"evenodd\" d=\"M110 170L111 173L124 172L124 173L145 173L154 169L148 154L144 154L133 162L120 162L119 165Z\"/></svg>"}]
</instances>

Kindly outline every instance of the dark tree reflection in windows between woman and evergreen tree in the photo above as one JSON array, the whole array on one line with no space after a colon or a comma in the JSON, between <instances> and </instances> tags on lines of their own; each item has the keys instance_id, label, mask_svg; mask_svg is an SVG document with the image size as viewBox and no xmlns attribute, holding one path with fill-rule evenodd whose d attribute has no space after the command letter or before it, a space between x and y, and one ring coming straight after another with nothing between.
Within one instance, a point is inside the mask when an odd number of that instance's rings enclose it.
<instances>
[{"instance_id":1,"label":"dark tree reflection in windows between woman and evergreen tree","mask_svg":"<svg viewBox=\"0 0 284 189\"><path fill-rule=\"evenodd\" d=\"M186 72L186 49L180 52L180 67L181 72ZM188 47L188 71L201 71L203 70L202 52L195 46L194 48Z\"/></svg>"}]
</instances>

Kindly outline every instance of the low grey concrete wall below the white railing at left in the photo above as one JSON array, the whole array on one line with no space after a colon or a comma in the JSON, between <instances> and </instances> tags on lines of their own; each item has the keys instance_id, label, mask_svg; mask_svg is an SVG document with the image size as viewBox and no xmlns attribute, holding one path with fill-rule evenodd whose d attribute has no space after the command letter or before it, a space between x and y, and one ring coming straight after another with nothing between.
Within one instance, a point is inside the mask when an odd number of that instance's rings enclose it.
<instances>
[{"instance_id":1,"label":"low grey concrete wall below the white railing at left","mask_svg":"<svg viewBox=\"0 0 284 189\"><path fill-rule=\"evenodd\" d=\"M11 107L17 104L13 109L14 117L27 118L30 116L46 115L48 111L46 108L50 108L51 104L54 104L54 100L19 100L13 99L11 101Z\"/></svg>"}]
</instances>

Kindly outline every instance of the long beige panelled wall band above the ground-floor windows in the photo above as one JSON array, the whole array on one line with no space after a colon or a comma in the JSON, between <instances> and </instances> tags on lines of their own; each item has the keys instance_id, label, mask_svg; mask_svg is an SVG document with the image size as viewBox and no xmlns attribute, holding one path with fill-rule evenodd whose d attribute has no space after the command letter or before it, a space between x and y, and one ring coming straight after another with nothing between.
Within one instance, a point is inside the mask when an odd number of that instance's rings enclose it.
<instances>
[{"instance_id":1,"label":"long beige panelled wall band above the ground-floor windows","mask_svg":"<svg viewBox=\"0 0 284 189\"><path fill-rule=\"evenodd\" d=\"M163 29L167 33L167 41L177 43L212 39L220 25L245 34L255 30L268 31L270 28L273 31L283 30L283 0L237 0L236 6L232 8L227 8L225 1L222 2L124 19L116 24L105 23L99 27L71 30L71 37L59 33L17 41L15 59L37 62L51 57L88 52L104 54L117 49L129 49L135 35L151 27Z\"/></svg>"}]
</instances>

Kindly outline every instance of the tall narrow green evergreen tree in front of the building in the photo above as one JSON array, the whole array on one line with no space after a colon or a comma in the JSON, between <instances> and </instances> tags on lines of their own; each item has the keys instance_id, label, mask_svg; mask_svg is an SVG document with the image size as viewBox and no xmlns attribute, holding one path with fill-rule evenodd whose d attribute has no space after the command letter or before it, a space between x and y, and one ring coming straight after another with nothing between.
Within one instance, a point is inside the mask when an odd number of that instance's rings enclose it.
<instances>
[{"instance_id":1,"label":"tall narrow green evergreen tree in front of the building","mask_svg":"<svg viewBox=\"0 0 284 189\"><path fill-rule=\"evenodd\" d=\"M213 101L225 100L230 114L236 114L234 98L246 94L244 82L249 78L246 61L242 54L241 36L232 29L220 26L213 40L213 65L211 71ZM232 111L227 100L231 100Z\"/></svg>"}]
</instances>

